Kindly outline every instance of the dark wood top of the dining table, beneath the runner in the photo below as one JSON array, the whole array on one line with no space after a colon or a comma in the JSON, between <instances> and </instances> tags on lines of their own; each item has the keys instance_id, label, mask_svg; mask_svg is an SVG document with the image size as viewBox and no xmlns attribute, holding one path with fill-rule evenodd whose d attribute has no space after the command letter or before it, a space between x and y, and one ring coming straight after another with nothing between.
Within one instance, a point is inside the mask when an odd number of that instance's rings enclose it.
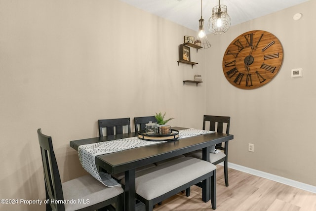
<instances>
[{"instance_id":1,"label":"dark wood top of the dining table, beneath the runner","mask_svg":"<svg viewBox=\"0 0 316 211\"><path fill-rule=\"evenodd\" d=\"M173 127L173 129L186 129L183 127ZM79 145L98 143L101 141L116 140L127 137L134 137L136 134L125 133L111 135L107 137L96 137L70 141L70 146L78 150ZM209 147L214 144L232 140L233 135L225 133L210 133L182 138L175 141L167 141L149 146L133 148L129 150L96 156L96 165L116 174L129 169L146 166L151 163L162 161L178 155L189 153L198 149Z\"/></svg>"}]
</instances>

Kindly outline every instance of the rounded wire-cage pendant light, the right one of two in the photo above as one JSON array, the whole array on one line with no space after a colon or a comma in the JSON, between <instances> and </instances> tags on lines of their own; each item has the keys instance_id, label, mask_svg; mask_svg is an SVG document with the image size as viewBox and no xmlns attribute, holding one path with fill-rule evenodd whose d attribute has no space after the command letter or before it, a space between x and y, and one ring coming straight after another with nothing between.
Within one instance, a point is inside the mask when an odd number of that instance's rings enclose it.
<instances>
[{"instance_id":1,"label":"rounded wire-cage pendant light, the right one of two","mask_svg":"<svg viewBox=\"0 0 316 211\"><path fill-rule=\"evenodd\" d=\"M220 4L213 7L212 16L208 19L208 29L215 35L221 35L228 31L231 26L231 17L227 13L227 6Z\"/></svg>"}]
</instances>

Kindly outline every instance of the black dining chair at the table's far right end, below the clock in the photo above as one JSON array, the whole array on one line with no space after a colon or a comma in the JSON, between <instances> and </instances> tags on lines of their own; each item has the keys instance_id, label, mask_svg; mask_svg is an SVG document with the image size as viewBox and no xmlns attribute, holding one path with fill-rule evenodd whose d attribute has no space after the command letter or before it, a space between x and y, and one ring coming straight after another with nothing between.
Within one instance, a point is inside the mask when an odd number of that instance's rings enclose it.
<instances>
[{"instance_id":1,"label":"black dining chair at the table's far right end, below the clock","mask_svg":"<svg viewBox=\"0 0 316 211\"><path fill-rule=\"evenodd\" d=\"M204 115L203 129L208 129L208 130L216 131L220 133L223 133L224 131L224 133L229 134L230 122L231 122L231 117ZM208 124L209 124L209 127L207 127ZM226 126L226 130L224 130L225 126ZM228 141L224 143L216 144L215 148L222 150L223 152L218 151L218 153L210 153L209 160L214 165L224 162L225 185L228 187ZM185 154L185 156L202 159L202 151L197 150L197 151Z\"/></svg>"}]
</instances>

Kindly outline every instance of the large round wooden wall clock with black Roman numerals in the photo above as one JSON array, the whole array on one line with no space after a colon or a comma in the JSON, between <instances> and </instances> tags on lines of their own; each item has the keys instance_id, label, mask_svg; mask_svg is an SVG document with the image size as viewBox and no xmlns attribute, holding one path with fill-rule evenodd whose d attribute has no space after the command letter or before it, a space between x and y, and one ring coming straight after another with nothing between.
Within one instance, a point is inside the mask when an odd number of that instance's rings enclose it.
<instances>
[{"instance_id":1,"label":"large round wooden wall clock with black Roman numerals","mask_svg":"<svg viewBox=\"0 0 316 211\"><path fill-rule=\"evenodd\" d=\"M242 89L269 83L283 61L283 48L273 34L256 30L239 35L227 47L223 71L229 83Z\"/></svg>"}]
</instances>

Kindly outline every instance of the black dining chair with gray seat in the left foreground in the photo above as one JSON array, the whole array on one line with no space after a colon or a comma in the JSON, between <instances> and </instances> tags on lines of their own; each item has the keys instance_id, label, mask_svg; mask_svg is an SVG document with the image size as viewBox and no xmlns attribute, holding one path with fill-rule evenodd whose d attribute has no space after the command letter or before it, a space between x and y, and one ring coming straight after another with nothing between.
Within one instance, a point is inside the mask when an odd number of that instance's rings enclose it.
<instances>
[{"instance_id":1,"label":"black dining chair with gray seat in the left foreground","mask_svg":"<svg viewBox=\"0 0 316 211\"><path fill-rule=\"evenodd\" d=\"M53 150L52 138L42 134L38 129L40 152L43 163L46 200L46 211L94 211L111 206L122 211L121 187L107 187L91 175L84 175L62 183ZM76 203L56 203L75 200ZM55 203L54 203L55 202ZM112 207L112 210L114 208Z\"/></svg>"}]
</instances>

